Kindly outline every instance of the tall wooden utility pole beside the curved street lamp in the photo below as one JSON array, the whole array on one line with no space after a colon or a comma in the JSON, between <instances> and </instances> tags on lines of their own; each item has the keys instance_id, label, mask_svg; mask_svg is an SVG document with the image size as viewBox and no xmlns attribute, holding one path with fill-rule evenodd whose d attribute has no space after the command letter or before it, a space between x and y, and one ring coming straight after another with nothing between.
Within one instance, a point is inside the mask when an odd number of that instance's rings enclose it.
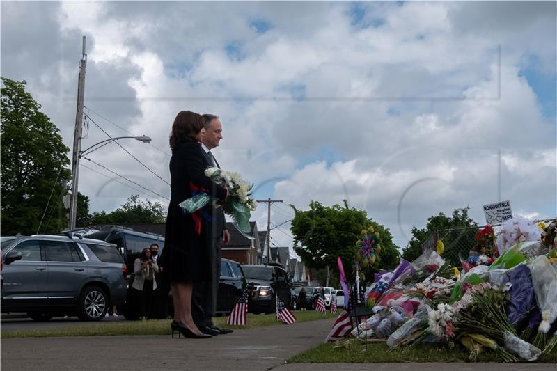
<instances>
[{"instance_id":1,"label":"tall wooden utility pole beside the curved street lamp","mask_svg":"<svg viewBox=\"0 0 557 371\"><path fill-rule=\"evenodd\" d=\"M77 183L79 182L79 153L81 152L81 129L83 128L83 101L85 95L86 65L87 54L85 53L84 36L81 61L79 61L79 78L77 81L77 113L75 115L74 150L72 156L72 194L70 198L70 221L68 223L70 230L75 228L75 219L77 219Z\"/></svg>"}]
</instances>

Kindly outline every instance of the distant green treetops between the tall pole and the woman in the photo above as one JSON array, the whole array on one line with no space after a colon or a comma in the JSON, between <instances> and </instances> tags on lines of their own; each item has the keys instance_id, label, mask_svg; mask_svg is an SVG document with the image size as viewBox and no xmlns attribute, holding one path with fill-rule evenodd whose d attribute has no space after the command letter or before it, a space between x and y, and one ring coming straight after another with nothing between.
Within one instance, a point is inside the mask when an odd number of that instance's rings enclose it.
<instances>
[{"instance_id":1,"label":"distant green treetops between the tall pole and the woman","mask_svg":"<svg viewBox=\"0 0 557 371\"><path fill-rule=\"evenodd\" d=\"M109 212L94 212L91 224L136 224L136 223L164 223L166 214L159 202L140 200L139 194L130 196L124 205Z\"/></svg>"}]
</instances>

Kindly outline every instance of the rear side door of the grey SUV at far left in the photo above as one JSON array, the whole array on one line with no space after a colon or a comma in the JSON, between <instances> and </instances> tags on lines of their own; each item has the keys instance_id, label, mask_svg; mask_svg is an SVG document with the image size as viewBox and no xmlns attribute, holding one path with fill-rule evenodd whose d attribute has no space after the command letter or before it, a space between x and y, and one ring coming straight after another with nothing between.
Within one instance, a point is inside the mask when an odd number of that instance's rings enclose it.
<instances>
[{"instance_id":1,"label":"rear side door of the grey SUV at far left","mask_svg":"<svg viewBox=\"0 0 557 371\"><path fill-rule=\"evenodd\" d=\"M45 240L41 244L47 257L50 301L53 305L77 301L88 276L83 252L75 242Z\"/></svg>"}]
</instances>

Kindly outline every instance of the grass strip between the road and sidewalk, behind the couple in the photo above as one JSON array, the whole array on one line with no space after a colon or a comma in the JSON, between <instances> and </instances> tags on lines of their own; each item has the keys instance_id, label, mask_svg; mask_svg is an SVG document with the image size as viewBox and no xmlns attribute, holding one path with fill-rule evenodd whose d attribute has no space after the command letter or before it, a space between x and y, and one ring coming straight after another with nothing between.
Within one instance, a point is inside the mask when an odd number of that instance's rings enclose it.
<instances>
[{"instance_id":1,"label":"grass strip between the road and sidewalk, behind the couple","mask_svg":"<svg viewBox=\"0 0 557 371\"><path fill-rule=\"evenodd\" d=\"M335 318L338 314L322 315L314 310L293 312L297 322L315 321L317 319ZM228 326L227 317L216 317L217 326L230 329L251 329L253 327L284 325L278 322L274 313L269 315L253 315L247 317L247 326ZM98 322L97 324L73 325L39 330L2 331L1 338L46 338L63 336L113 336L113 335L169 335L170 319L148 321Z\"/></svg>"}]
</instances>

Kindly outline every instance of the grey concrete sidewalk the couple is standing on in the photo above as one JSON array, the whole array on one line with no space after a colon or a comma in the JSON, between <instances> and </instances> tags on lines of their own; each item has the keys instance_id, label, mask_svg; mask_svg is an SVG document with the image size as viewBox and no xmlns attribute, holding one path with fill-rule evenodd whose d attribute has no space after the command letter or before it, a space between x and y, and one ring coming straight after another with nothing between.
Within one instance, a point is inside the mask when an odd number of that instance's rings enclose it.
<instances>
[{"instance_id":1,"label":"grey concrete sidewalk the couple is standing on","mask_svg":"<svg viewBox=\"0 0 557 371\"><path fill-rule=\"evenodd\" d=\"M210 339L88 336L1 340L2 370L270 370L323 342L334 319L237 330Z\"/></svg>"}]
</instances>

